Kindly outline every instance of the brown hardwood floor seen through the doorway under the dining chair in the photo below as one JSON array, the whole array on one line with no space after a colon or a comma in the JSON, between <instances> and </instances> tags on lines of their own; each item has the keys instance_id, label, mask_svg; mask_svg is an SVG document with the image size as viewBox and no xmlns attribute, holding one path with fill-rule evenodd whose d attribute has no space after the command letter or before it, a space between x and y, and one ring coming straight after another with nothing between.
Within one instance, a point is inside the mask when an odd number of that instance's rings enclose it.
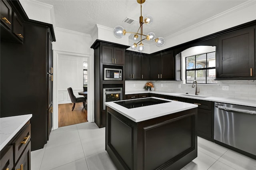
<instances>
[{"instance_id":1,"label":"brown hardwood floor seen through the doorway under the dining chair","mask_svg":"<svg viewBox=\"0 0 256 170\"><path fill-rule=\"evenodd\" d=\"M73 103L58 105L59 127L87 122L87 110L83 109L83 103L76 103L72 111Z\"/></svg>"}]
</instances>

